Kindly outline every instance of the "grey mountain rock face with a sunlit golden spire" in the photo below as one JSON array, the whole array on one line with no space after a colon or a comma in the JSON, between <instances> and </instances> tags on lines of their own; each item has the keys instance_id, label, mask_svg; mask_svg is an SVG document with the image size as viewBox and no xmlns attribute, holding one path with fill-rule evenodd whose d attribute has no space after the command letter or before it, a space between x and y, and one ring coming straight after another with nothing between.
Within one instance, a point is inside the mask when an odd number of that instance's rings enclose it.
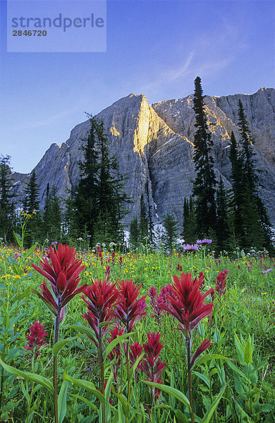
<instances>
[{"instance_id":1,"label":"grey mountain rock face with a sunlit golden spire","mask_svg":"<svg viewBox=\"0 0 275 423\"><path fill-rule=\"evenodd\" d=\"M238 101L241 99L252 131L255 146L255 166L259 173L259 193L275 224L275 90L261 88L255 94L236 94L226 97L205 97L205 111L214 140L216 176L230 188L231 166L228 159L231 131L238 140ZM111 154L116 154L121 173L128 176L126 193L133 200L124 224L128 226L140 214L140 197L145 206L152 206L154 221L163 221L166 212L182 221L183 200L192 192L195 177L193 139L195 114L193 96L168 100L151 106L145 95L130 94L115 102L98 115L109 137ZM47 183L56 185L58 195L66 199L78 182L79 150L82 139L90 129L85 121L75 126L70 138L52 144L36 166L37 183L42 203ZM16 194L20 200L28 175L14 174ZM149 204L146 183L149 187Z\"/></svg>"}]
</instances>

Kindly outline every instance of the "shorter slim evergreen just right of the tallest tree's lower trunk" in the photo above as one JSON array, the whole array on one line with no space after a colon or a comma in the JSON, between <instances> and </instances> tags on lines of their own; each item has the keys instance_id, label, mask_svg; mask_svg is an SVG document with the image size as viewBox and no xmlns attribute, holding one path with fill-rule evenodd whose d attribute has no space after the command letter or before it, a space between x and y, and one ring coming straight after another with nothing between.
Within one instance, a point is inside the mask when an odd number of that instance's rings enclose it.
<instances>
[{"instance_id":1,"label":"shorter slim evergreen just right of the tallest tree's lower trunk","mask_svg":"<svg viewBox=\"0 0 275 423\"><path fill-rule=\"evenodd\" d=\"M220 176L219 186L216 192L216 238L220 251L228 250L228 248L231 247L231 224L228 203L228 192L226 191L224 182Z\"/></svg>"}]
</instances>

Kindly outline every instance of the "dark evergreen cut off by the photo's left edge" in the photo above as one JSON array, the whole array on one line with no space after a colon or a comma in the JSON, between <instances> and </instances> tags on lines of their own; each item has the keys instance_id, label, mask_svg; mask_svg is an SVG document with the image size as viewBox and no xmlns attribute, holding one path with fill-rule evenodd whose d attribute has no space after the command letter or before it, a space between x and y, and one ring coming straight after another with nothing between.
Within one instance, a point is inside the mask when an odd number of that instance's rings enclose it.
<instances>
[{"instance_id":1,"label":"dark evergreen cut off by the photo's left edge","mask_svg":"<svg viewBox=\"0 0 275 423\"><path fill-rule=\"evenodd\" d=\"M11 240L11 229L13 224L13 197L11 193L11 157L0 158L0 236L7 243Z\"/></svg>"}]
</instances>

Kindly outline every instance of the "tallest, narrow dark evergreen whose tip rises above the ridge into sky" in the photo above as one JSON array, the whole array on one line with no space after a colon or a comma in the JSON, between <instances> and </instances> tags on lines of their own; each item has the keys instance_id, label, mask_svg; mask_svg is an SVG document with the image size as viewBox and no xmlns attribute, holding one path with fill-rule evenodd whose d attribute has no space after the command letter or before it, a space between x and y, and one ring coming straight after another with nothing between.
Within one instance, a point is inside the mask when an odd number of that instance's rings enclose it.
<instances>
[{"instance_id":1,"label":"tallest, narrow dark evergreen whose tip rises above the ridge into sky","mask_svg":"<svg viewBox=\"0 0 275 423\"><path fill-rule=\"evenodd\" d=\"M209 231L216 231L216 178L214 160L211 156L213 141L207 126L203 99L201 80L197 77L193 100L197 128L194 137L194 161L197 175L193 183L193 195L195 195L197 235L200 237L207 236Z\"/></svg>"}]
</instances>

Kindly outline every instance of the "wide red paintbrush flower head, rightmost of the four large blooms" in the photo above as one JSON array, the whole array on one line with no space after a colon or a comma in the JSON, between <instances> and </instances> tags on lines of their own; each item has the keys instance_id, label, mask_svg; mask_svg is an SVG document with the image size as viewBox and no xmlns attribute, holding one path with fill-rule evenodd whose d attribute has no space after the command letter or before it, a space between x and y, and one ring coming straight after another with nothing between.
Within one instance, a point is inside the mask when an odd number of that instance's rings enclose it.
<instances>
[{"instance_id":1,"label":"wide red paintbrush flower head, rightmost of the four large blooms","mask_svg":"<svg viewBox=\"0 0 275 423\"><path fill-rule=\"evenodd\" d=\"M161 303L161 309L172 314L180 322L178 329L183 331L185 337L191 338L192 330L206 316L212 313L213 303L204 303L204 298L214 290L211 288L204 295L200 292L200 285L204 276L192 280L191 274L173 276L171 295L168 295L169 304Z\"/></svg>"}]
</instances>

